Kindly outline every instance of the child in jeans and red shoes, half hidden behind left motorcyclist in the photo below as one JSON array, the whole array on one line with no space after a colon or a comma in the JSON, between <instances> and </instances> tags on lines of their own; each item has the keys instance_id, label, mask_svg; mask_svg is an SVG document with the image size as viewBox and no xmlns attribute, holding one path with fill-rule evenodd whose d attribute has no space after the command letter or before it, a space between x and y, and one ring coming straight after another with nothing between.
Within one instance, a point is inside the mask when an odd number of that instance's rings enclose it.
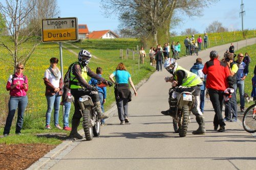
<instances>
[{"instance_id":1,"label":"child in jeans and red shoes, half hidden behind left motorcyclist","mask_svg":"<svg viewBox=\"0 0 256 170\"><path fill-rule=\"evenodd\" d=\"M72 129L69 127L69 112L71 108L71 102L73 101L73 96L70 92L70 89L66 86L63 86L63 94L62 94L62 101L60 105L65 107L65 112L63 116L63 130L71 131Z\"/></svg>"}]
</instances>

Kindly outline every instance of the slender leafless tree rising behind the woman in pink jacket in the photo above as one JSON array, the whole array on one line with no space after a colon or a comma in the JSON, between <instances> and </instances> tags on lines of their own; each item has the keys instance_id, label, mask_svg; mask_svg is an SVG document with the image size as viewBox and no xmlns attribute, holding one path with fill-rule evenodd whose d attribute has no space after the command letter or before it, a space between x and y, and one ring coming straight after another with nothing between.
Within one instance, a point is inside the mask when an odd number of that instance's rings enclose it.
<instances>
[{"instance_id":1,"label":"slender leafless tree rising behind the woman in pink jacket","mask_svg":"<svg viewBox=\"0 0 256 170\"><path fill-rule=\"evenodd\" d=\"M0 37L0 46L5 47L11 56L11 58L0 56L0 59L11 64L14 70L18 63L26 64L40 43L40 37L34 36L34 32L37 31L35 26L31 32L24 32L29 13L33 10L35 2L36 0L6 0L5 3L0 3L0 12L3 14L10 34L8 36L10 41Z\"/></svg>"}]
</instances>

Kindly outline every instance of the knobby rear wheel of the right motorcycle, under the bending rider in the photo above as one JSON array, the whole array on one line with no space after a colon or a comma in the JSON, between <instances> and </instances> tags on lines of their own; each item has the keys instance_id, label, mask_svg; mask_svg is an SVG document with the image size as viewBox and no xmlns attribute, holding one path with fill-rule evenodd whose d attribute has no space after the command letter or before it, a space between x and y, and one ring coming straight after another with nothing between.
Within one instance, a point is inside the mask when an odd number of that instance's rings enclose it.
<instances>
[{"instance_id":1,"label":"knobby rear wheel of the right motorcycle, under the bending rider","mask_svg":"<svg viewBox=\"0 0 256 170\"><path fill-rule=\"evenodd\" d=\"M188 109L188 106L185 105L181 109L181 118L180 118L180 124L179 124L180 137L185 137L187 134L188 120L189 120L189 109Z\"/></svg>"}]
</instances>

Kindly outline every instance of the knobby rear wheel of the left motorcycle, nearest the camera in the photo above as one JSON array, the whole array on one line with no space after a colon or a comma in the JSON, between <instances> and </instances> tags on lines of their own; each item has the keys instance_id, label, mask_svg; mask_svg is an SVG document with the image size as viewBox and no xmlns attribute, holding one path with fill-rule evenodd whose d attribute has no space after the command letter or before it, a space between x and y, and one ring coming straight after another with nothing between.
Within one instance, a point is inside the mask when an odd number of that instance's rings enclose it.
<instances>
[{"instance_id":1,"label":"knobby rear wheel of the left motorcycle, nearest the camera","mask_svg":"<svg viewBox=\"0 0 256 170\"><path fill-rule=\"evenodd\" d=\"M86 108L82 114L82 127L84 131L84 135L86 136L86 140L93 139L93 127L91 124L91 111Z\"/></svg>"}]
</instances>

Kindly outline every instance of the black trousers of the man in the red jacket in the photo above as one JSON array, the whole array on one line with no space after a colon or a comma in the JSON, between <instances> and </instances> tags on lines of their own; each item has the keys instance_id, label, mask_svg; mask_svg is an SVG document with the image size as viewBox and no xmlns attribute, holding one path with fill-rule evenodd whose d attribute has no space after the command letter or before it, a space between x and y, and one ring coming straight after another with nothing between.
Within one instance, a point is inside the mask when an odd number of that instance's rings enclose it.
<instances>
[{"instance_id":1,"label":"black trousers of the man in the red jacket","mask_svg":"<svg viewBox=\"0 0 256 170\"><path fill-rule=\"evenodd\" d=\"M208 91L212 107L214 107L215 111L214 126L225 126L226 124L224 123L222 117L223 91L215 89L209 89Z\"/></svg>"}]
</instances>

